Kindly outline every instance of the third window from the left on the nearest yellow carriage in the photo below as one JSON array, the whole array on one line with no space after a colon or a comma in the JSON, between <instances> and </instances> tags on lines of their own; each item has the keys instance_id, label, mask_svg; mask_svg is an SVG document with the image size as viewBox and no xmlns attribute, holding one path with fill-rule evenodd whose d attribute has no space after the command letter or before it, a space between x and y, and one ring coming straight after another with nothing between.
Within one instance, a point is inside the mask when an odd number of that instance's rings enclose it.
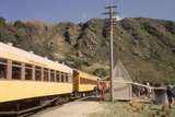
<instances>
[{"instance_id":1,"label":"third window from the left on the nearest yellow carriage","mask_svg":"<svg viewBox=\"0 0 175 117\"><path fill-rule=\"evenodd\" d=\"M33 69L31 65L25 65L25 80L32 80Z\"/></svg>"}]
</instances>

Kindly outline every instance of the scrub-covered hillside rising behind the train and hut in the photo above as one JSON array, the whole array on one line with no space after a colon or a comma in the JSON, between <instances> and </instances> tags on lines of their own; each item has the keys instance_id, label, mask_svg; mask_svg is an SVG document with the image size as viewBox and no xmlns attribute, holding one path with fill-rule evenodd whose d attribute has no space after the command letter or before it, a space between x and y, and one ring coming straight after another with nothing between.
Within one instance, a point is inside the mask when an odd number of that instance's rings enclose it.
<instances>
[{"instance_id":1,"label":"scrub-covered hillside rising behind the train and hut","mask_svg":"<svg viewBox=\"0 0 175 117\"><path fill-rule=\"evenodd\" d=\"M124 19L115 25L115 51L139 82L175 83L175 22ZM102 19L86 23L8 23L0 19L0 42L65 62L88 72L107 75L108 33ZM115 59L116 60L116 59Z\"/></svg>"}]
</instances>

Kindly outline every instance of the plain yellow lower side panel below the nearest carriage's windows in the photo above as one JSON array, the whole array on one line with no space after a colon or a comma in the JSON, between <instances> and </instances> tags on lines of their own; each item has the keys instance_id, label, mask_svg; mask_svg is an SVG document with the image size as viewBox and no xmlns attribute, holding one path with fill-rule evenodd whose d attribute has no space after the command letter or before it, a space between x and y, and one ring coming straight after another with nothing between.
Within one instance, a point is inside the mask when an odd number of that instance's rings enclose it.
<instances>
[{"instance_id":1,"label":"plain yellow lower side panel below the nearest carriage's windows","mask_svg":"<svg viewBox=\"0 0 175 117\"><path fill-rule=\"evenodd\" d=\"M0 80L0 103L72 93L72 83Z\"/></svg>"}]
</instances>

